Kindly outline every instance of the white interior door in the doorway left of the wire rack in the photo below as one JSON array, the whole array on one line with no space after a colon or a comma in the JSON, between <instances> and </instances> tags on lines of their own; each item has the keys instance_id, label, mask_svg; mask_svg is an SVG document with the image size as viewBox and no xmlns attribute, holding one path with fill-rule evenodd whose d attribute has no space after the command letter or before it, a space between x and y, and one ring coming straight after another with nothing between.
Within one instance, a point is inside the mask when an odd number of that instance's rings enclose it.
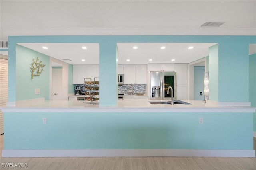
<instances>
[{"instance_id":1,"label":"white interior door in the doorway left of the wire rack","mask_svg":"<svg viewBox=\"0 0 256 170\"><path fill-rule=\"evenodd\" d=\"M62 68L52 68L52 100L63 100Z\"/></svg>"}]
</instances>

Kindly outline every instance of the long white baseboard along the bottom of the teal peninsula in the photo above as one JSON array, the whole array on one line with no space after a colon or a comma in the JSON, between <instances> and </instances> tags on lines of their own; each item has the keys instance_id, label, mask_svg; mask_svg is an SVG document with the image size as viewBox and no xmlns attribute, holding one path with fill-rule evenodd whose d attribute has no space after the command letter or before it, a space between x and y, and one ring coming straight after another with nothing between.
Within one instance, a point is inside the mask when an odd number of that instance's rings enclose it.
<instances>
[{"instance_id":1,"label":"long white baseboard along the bottom of the teal peninsula","mask_svg":"<svg viewBox=\"0 0 256 170\"><path fill-rule=\"evenodd\" d=\"M67 149L2 150L2 157L253 157L255 150Z\"/></svg>"}]
</instances>

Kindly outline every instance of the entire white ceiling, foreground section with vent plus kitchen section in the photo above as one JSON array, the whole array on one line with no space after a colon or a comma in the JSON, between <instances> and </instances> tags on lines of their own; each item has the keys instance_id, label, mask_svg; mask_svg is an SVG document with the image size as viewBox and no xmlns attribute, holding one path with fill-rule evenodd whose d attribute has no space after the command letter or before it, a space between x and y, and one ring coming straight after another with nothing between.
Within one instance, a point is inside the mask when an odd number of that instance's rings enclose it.
<instances>
[{"instance_id":1,"label":"entire white ceiling, foreground section with vent plus kitchen section","mask_svg":"<svg viewBox=\"0 0 256 170\"><path fill-rule=\"evenodd\" d=\"M256 0L1 0L0 14L1 41L8 41L9 35L256 35ZM200 27L205 22L225 23ZM42 44L26 47L58 59L78 60L71 64L82 64L83 57L86 64L98 64L98 44L86 44L84 51L82 44L47 45L44 52ZM187 49L191 44L136 45L135 51L132 43L118 43L120 64L126 64L127 58L129 64L143 64L149 58L155 63L172 58L189 63L207 56L212 44L193 44L192 50ZM160 50L162 45L166 49Z\"/></svg>"}]
</instances>

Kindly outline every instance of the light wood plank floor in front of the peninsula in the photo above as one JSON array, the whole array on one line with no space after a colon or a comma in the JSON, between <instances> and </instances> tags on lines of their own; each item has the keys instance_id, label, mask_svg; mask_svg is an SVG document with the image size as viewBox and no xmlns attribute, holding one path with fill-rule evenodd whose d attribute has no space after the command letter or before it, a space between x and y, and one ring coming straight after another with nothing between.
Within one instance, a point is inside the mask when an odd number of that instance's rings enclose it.
<instances>
[{"instance_id":1,"label":"light wood plank floor in front of the peninsula","mask_svg":"<svg viewBox=\"0 0 256 170\"><path fill-rule=\"evenodd\" d=\"M256 158L214 157L53 157L2 158L1 170L256 170ZM254 150L256 138L254 138ZM27 163L27 168L6 168L2 163Z\"/></svg>"}]
</instances>

